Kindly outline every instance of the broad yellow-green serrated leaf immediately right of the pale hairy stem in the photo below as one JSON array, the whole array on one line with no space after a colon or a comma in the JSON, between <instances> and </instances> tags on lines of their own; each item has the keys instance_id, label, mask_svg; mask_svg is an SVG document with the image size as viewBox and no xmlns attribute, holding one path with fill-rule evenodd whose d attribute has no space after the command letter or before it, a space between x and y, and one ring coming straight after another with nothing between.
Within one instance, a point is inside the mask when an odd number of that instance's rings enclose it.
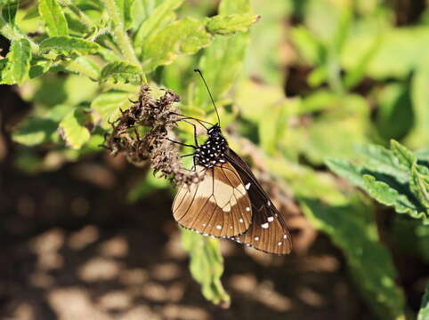
<instances>
[{"instance_id":1,"label":"broad yellow-green serrated leaf immediately right of the pale hairy stem","mask_svg":"<svg viewBox=\"0 0 429 320\"><path fill-rule=\"evenodd\" d=\"M191 54L212 42L202 21L185 18L148 37L142 48L143 71L172 63L179 54Z\"/></svg>"}]
</instances>

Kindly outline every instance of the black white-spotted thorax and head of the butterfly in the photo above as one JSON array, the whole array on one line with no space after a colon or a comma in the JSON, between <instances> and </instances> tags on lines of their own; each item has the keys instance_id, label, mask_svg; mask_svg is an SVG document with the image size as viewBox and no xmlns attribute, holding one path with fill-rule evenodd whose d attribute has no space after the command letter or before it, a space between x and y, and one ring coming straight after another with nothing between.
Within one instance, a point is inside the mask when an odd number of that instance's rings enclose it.
<instances>
[{"instance_id":1,"label":"black white-spotted thorax and head of the butterfly","mask_svg":"<svg viewBox=\"0 0 429 320\"><path fill-rule=\"evenodd\" d=\"M226 162L225 153L228 150L228 142L223 138L221 128L215 124L208 131L208 139L195 151L195 164L212 168L216 164Z\"/></svg>"}]
</instances>

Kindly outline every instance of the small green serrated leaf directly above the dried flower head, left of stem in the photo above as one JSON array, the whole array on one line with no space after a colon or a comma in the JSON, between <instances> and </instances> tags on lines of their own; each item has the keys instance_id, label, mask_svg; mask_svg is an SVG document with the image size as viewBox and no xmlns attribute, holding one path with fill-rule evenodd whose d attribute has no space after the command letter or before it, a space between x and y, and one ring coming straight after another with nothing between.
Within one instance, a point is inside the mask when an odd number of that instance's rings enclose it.
<instances>
[{"instance_id":1,"label":"small green serrated leaf directly above the dried flower head, left of stem","mask_svg":"<svg viewBox=\"0 0 429 320\"><path fill-rule=\"evenodd\" d=\"M109 79L113 79L116 83L141 84L142 68L125 61L111 62L102 68L99 81L106 82Z\"/></svg>"}]
</instances>

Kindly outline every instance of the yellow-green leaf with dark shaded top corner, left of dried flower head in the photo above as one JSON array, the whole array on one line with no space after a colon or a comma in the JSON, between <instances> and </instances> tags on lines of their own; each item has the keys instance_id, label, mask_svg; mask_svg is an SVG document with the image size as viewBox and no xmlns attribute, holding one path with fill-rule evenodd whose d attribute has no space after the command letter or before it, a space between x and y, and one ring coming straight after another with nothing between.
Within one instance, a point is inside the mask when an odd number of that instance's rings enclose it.
<instances>
[{"instance_id":1,"label":"yellow-green leaf with dark shaded top corner, left of dried flower head","mask_svg":"<svg viewBox=\"0 0 429 320\"><path fill-rule=\"evenodd\" d=\"M61 121L59 131L70 148L79 149L91 138L88 130L92 126L89 110L76 108Z\"/></svg>"}]
</instances>

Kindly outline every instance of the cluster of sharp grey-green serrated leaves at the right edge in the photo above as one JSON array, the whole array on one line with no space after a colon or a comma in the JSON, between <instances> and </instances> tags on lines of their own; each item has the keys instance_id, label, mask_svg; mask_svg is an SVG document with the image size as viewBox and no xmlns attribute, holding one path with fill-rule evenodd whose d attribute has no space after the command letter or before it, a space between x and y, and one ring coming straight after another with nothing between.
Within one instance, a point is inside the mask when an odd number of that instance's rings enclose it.
<instances>
[{"instance_id":1,"label":"cluster of sharp grey-green serrated leaves at the right edge","mask_svg":"<svg viewBox=\"0 0 429 320\"><path fill-rule=\"evenodd\" d=\"M395 140L390 150L367 146L358 151L362 164L332 158L328 167L379 203L429 224L429 168Z\"/></svg>"}]
</instances>

